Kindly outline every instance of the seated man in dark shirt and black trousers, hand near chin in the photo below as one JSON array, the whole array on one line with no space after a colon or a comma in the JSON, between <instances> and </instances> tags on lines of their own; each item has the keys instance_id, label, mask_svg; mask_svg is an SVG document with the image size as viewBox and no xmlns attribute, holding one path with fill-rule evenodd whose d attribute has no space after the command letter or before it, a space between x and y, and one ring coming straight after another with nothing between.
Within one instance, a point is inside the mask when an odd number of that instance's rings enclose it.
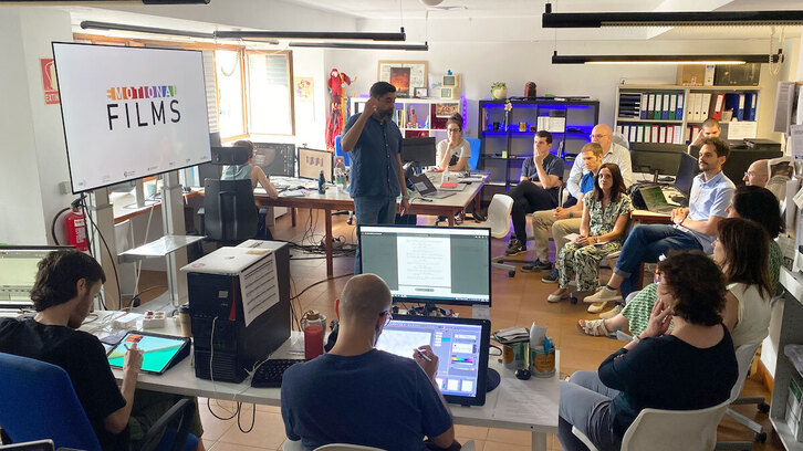
<instances>
[{"instance_id":1,"label":"seated man in dark shirt and black trousers, hand near chin","mask_svg":"<svg viewBox=\"0 0 803 451\"><path fill-rule=\"evenodd\" d=\"M563 179L563 160L550 154L552 134L540 130L533 139L533 156L521 166L519 185L510 191L515 237L510 240L508 255L526 252L526 214L551 210L557 206L557 188Z\"/></svg>"}]
</instances>

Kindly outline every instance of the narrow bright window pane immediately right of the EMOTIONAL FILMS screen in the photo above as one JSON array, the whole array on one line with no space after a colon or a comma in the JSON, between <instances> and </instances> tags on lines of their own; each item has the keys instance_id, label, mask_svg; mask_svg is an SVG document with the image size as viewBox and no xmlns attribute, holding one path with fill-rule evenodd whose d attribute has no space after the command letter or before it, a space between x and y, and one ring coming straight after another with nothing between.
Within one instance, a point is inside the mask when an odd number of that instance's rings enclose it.
<instances>
[{"instance_id":1,"label":"narrow bright window pane immediately right of the EMOTIONAL FILMS screen","mask_svg":"<svg viewBox=\"0 0 803 451\"><path fill-rule=\"evenodd\" d=\"M246 135L241 56L241 51L217 50L215 52L218 109L220 112L219 127L222 138Z\"/></svg>"}]
</instances>

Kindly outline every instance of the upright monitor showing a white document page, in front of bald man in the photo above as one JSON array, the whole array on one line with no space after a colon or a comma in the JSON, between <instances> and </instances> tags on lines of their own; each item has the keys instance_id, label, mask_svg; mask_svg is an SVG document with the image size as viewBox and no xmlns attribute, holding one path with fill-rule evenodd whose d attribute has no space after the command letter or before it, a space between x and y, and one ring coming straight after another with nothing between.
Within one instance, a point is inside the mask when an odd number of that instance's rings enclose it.
<instances>
[{"instance_id":1,"label":"upright monitor showing a white document page, in front of bald man","mask_svg":"<svg viewBox=\"0 0 803 451\"><path fill-rule=\"evenodd\" d=\"M490 229L358 226L357 237L363 273L394 302L491 306Z\"/></svg>"}]
</instances>

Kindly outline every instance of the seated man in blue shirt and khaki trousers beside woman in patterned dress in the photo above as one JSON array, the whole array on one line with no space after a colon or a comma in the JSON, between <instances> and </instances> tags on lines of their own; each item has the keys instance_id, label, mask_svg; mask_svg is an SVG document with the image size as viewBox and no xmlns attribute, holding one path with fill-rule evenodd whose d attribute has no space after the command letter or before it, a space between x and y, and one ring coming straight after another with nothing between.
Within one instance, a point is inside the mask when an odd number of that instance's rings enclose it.
<instances>
[{"instance_id":1,"label":"seated man in blue shirt and khaki trousers beside woman in patterned dress","mask_svg":"<svg viewBox=\"0 0 803 451\"><path fill-rule=\"evenodd\" d=\"M580 226L583 220L583 198L594 189L594 177L602 167L602 146L598 143L588 143L581 151L585 172L580 181L580 198L577 203L569 208L557 207L554 210L536 211L532 216L532 229L535 235L535 264L521 268L523 272L548 271L552 269L550 263L550 230L555 240L555 255L566 244L565 235L580 233ZM557 282L557 270L541 279L544 283Z\"/></svg>"}]
</instances>

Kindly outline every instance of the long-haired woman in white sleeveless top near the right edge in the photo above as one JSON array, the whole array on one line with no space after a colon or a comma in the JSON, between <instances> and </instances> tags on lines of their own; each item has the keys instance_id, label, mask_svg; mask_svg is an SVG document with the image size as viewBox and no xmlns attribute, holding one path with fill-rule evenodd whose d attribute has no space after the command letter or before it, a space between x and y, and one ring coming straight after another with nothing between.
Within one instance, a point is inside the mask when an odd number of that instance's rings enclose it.
<instances>
[{"instance_id":1,"label":"long-haired woman in white sleeveless top near the right edge","mask_svg":"<svg viewBox=\"0 0 803 451\"><path fill-rule=\"evenodd\" d=\"M745 219L723 219L718 230L713 260L730 282L722 323L731 333L733 347L760 343L770 327L770 238L761 226Z\"/></svg>"}]
</instances>

